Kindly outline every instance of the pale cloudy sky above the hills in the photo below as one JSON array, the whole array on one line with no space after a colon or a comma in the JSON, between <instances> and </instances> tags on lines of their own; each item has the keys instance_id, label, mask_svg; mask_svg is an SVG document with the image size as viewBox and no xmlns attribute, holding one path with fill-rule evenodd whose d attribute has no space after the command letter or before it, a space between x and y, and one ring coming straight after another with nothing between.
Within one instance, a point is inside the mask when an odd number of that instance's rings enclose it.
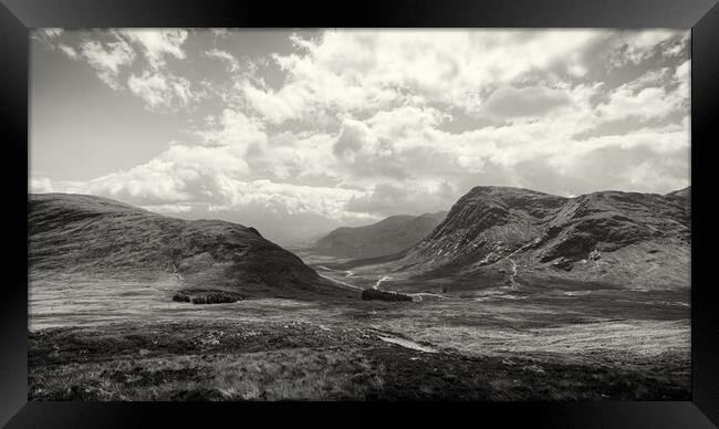
<instances>
[{"instance_id":1,"label":"pale cloudy sky above the hills","mask_svg":"<svg viewBox=\"0 0 719 429\"><path fill-rule=\"evenodd\" d=\"M292 244L475 186L689 186L685 30L39 29L31 192Z\"/></svg>"}]
</instances>

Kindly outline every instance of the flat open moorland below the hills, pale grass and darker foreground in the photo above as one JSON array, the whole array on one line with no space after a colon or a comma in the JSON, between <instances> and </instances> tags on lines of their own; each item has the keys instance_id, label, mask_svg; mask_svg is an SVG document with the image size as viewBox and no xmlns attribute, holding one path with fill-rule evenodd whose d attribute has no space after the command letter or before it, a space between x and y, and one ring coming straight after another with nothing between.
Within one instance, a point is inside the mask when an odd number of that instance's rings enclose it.
<instances>
[{"instance_id":1,"label":"flat open moorland below the hills, pale grass and darker foreground","mask_svg":"<svg viewBox=\"0 0 719 429\"><path fill-rule=\"evenodd\" d=\"M372 285L385 273L322 274ZM518 276L419 302L195 305L171 301L176 281L35 280L29 398L689 399L688 292Z\"/></svg>"}]
</instances>

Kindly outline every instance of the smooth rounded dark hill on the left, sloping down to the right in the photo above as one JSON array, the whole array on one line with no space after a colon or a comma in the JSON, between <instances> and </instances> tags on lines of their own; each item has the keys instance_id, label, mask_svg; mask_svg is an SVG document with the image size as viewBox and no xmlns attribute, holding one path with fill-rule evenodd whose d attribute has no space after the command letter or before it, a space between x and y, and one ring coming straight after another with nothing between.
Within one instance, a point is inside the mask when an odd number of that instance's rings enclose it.
<instances>
[{"instance_id":1,"label":"smooth rounded dark hill on the left, sloping down to the right","mask_svg":"<svg viewBox=\"0 0 719 429\"><path fill-rule=\"evenodd\" d=\"M84 195L31 195L28 209L34 278L175 275L180 279L178 290L241 292L250 297L348 293L253 228L174 219Z\"/></svg>"}]
</instances>

